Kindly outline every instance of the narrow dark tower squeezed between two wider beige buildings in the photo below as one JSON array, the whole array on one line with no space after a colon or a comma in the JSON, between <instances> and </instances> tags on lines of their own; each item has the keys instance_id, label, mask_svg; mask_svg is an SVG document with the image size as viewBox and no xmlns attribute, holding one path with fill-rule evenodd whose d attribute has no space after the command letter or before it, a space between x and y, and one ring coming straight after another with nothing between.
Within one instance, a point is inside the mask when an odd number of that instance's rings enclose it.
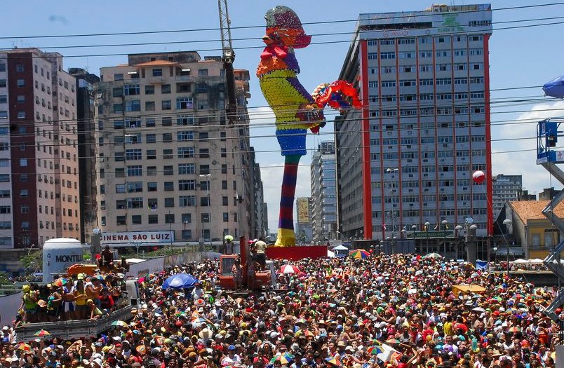
<instances>
[{"instance_id":1,"label":"narrow dark tower squeezed between two wider beige buildings","mask_svg":"<svg viewBox=\"0 0 564 368\"><path fill-rule=\"evenodd\" d=\"M94 85L100 77L81 68L69 68L76 78L76 125L79 135L80 240L90 244L96 225L96 144L94 139Z\"/></svg>"}]
</instances>

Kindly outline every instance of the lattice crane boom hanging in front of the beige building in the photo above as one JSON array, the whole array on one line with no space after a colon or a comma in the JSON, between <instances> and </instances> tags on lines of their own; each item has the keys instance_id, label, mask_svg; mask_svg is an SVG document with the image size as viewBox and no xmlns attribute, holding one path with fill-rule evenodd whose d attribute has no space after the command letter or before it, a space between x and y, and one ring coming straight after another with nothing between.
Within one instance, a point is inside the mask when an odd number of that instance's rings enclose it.
<instances>
[{"instance_id":1,"label":"lattice crane boom hanging in front of the beige building","mask_svg":"<svg viewBox=\"0 0 564 368\"><path fill-rule=\"evenodd\" d=\"M225 114L227 122L233 127L237 122L237 99L235 96L235 74L233 70L233 62L235 61L235 52L231 45L231 19L229 19L229 11L227 10L227 0L217 0L217 6L220 9L220 30L221 30L221 46L223 50L223 68L225 69L225 81L227 83L227 106Z\"/></svg>"}]
</instances>

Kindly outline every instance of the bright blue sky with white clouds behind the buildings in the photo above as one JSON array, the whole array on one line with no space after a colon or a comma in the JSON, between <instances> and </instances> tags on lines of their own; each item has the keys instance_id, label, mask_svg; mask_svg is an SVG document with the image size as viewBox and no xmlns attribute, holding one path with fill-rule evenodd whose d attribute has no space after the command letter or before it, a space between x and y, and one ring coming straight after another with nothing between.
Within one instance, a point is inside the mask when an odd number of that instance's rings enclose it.
<instances>
[{"instance_id":1,"label":"bright blue sky with white clouds behind the buildings","mask_svg":"<svg viewBox=\"0 0 564 368\"><path fill-rule=\"evenodd\" d=\"M494 32L490 40L490 76L492 88L492 175L504 173L523 175L525 189L531 193L542 191L551 184L548 172L535 165L534 139L536 121L550 116L564 116L564 102L545 100L536 103L515 100L542 99L540 87L554 77L564 74L564 18L552 20L525 20L554 18L564 14L564 5L536 8L496 10L549 1L492 1ZM231 0L233 45L236 50L235 67L251 71L249 100L252 124L269 123L267 127L251 129L251 144L257 151L257 161L262 167L264 189L269 206L269 228L276 231L278 201L283 159L277 151L274 138L274 119L262 97L255 69L262 52L260 37L264 34L264 13L276 5L293 8L302 22L331 22L304 25L313 35L308 48L297 50L302 74L300 81L313 90L319 83L337 79L349 48L351 32L360 13L394 11L420 11L431 6L431 1L250 1ZM448 4L471 4L468 1L450 1ZM99 74L100 67L126 62L127 54L176 50L197 50L202 56L220 55L220 32L217 1L13 1L1 2L3 13L0 35L13 37L0 39L0 48L39 47L62 53L65 68L83 67ZM347 21L348 20L348 21ZM338 21L338 22L336 22ZM523 21L523 22L516 22ZM550 25L537 27L516 26ZM93 34L109 32L143 32L172 29L209 29L200 32L175 32L129 36L79 36L71 38L31 39L26 36ZM329 35L328 35L329 34ZM198 41L198 42L195 42ZM147 46L102 45L116 43L162 43ZM98 45L88 48L62 48L62 46ZM79 57L68 57L78 55ZM90 55L90 56L83 56ZM508 89L521 88L521 89ZM331 114L330 114L331 115ZM527 123L528 122L528 123ZM328 124L322 135L310 136L308 146L313 149L318 142L332 139L333 125ZM260 137L259 137L260 136ZM530 150L533 151L523 151ZM508 152L519 151L519 152ZM300 163L308 164L311 154ZM309 167L302 165L298 173L297 196L309 196Z\"/></svg>"}]
</instances>

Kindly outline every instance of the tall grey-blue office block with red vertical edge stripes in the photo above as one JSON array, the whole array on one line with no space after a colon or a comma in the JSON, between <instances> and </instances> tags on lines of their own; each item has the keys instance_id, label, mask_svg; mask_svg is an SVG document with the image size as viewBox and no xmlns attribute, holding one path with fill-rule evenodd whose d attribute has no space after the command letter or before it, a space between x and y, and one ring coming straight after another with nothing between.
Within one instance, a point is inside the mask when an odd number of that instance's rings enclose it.
<instances>
[{"instance_id":1,"label":"tall grey-blue office block with red vertical edge stripes","mask_svg":"<svg viewBox=\"0 0 564 368\"><path fill-rule=\"evenodd\" d=\"M361 14L341 79L365 103L336 123L347 236L492 231L489 4ZM415 228L413 227L415 225ZM431 230L432 230L431 229Z\"/></svg>"}]
</instances>

